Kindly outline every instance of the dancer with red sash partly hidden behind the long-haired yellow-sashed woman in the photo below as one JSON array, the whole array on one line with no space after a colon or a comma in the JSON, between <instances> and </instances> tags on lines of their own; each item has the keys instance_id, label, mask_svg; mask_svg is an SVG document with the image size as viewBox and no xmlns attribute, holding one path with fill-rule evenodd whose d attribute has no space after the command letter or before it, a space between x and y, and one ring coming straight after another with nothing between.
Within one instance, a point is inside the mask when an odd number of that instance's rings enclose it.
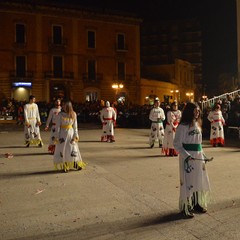
<instances>
[{"instance_id":1,"label":"dancer with red sash partly hidden behind the long-haired yellow-sashed woman","mask_svg":"<svg viewBox=\"0 0 240 240\"><path fill-rule=\"evenodd\" d=\"M49 126L51 124L51 134L49 139L49 145L48 145L48 152L51 154L54 154L55 151L55 143L54 143L54 133L56 131L56 118L57 115L61 112L61 100L57 99L55 101L55 106L49 111L45 131L48 131Z\"/></svg>"}]
</instances>

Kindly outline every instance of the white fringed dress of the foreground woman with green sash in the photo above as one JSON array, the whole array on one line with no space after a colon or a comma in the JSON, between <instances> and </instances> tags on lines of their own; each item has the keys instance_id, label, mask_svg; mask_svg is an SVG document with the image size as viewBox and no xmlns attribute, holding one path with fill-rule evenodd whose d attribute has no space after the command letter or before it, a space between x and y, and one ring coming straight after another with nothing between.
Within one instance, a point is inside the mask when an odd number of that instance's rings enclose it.
<instances>
[{"instance_id":1,"label":"white fringed dress of the foreground woman with green sash","mask_svg":"<svg viewBox=\"0 0 240 240\"><path fill-rule=\"evenodd\" d=\"M198 123L193 126L180 124L176 130L174 147L179 152L180 198L179 208L188 211L192 207L192 199L197 198L201 207L207 207L209 202L210 184L204 161L203 150L185 150L183 144L202 144L201 128ZM186 159L191 156L196 160Z\"/></svg>"}]
</instances>

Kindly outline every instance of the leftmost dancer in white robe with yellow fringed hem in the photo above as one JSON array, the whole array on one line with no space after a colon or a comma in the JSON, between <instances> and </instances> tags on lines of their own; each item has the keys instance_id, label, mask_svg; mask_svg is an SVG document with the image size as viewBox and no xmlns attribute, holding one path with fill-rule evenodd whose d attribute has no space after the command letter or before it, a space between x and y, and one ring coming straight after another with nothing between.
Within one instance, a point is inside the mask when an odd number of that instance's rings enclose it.
<instances>
[{"instance_id":1,"label":"leftmost dancer in white robe with yellow fringed hem","mask_svg":"<svg viewBox=\"0 0 240 240\"><path fill-rule=\"evenodd\" d=\"M43 146L43 142L40 136L41 119L39 115L38 105L35 103L36 98L31 95L29 97L29 103L24 105L24 135L26 147L30 144Z\"/></svg>"}]
</instances>

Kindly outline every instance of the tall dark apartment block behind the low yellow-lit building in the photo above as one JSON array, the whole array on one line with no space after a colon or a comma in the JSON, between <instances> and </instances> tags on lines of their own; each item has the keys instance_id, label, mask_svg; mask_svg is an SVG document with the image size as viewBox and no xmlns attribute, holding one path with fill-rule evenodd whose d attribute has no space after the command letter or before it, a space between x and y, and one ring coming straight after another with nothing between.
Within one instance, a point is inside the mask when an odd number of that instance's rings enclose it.
<instances>
[{"instance_id":1,"label":"tall dark apartment block behind the low yellow-lit building","mask_svg":"<svg viewBox=\"0 0 240 240\"><path fill-rule=\"evenodd\" d=\"M176 59L189 62L194 67L195 99L201 98L203 83L200 21L144 21L141 26L141 66L175 64ZM143 69L142 76L145 75ZM177 77L175 76L175 84L180 83Z\"/></svg>"}]
</instances>

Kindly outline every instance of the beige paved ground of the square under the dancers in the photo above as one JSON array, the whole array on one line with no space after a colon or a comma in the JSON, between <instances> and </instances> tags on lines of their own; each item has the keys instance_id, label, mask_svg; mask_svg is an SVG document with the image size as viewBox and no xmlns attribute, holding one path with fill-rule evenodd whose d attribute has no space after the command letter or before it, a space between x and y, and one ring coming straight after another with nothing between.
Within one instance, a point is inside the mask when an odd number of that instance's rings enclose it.
<instances>
[{"instance_id":1,"label":"beige paved ground of the square under the dancers","mask_svg":"<svg viewBox=\"0 0 240 240\"><path fill-rule=\"evenodd\" d=\"M53 170L43 148L23 146L22 126L0 125L0 239L240 239L240 141L213 148L204 140L212 187L208 212L178 213L178 158L148 146L148 129L116 129L100 142L99 126L79 128L82 171ZM13 158L6 158L12 153Z\"/></svg>"}]
</instances>

